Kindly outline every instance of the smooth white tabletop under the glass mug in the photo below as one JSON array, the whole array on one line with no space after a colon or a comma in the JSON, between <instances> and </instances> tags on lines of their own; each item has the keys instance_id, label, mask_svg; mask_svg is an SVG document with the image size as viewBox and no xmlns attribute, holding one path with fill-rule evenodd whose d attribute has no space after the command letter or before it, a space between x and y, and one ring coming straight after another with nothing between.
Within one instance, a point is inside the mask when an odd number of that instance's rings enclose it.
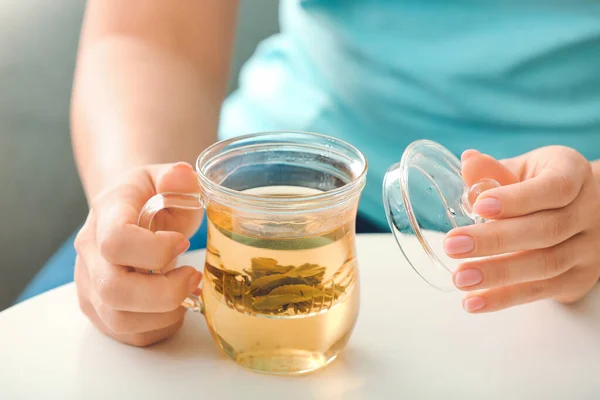
<instances>
[{"instance_id":1,"label":"smooth white tabletop under the glass mug","mask_svg":"<svg viewBox=\"0 0 600 400\"><path fill-rule=\"evenodd\" d=\"M468 315L458 293L421 281L391 236L359 237L358 254L358 325L316 374L247 372L195 314L162 344L121 345L95 331L66 285L0 313L0 399L600 398L600 289L575 306Z\"/></svg>"}]
</instances>

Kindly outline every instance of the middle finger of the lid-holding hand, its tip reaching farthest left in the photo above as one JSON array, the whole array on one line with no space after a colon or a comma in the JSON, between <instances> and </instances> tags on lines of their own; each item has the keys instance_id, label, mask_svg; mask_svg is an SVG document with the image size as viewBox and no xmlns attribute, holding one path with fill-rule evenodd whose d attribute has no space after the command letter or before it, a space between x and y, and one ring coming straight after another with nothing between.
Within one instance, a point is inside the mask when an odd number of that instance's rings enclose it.
<instances>
[{"instance_id":1,"label":"middle finger of the lid-holding hand, its tip reaching farthest left","mask_svg":"<svg viewBox=\"0 0 600 400\"><path fill-rule=\"evenodd\" d=\"M558 210L453 229L444 250L450 257L466 258L547 248L581 232L588 223L575 202Z\"/></svg>"}]
</instances>

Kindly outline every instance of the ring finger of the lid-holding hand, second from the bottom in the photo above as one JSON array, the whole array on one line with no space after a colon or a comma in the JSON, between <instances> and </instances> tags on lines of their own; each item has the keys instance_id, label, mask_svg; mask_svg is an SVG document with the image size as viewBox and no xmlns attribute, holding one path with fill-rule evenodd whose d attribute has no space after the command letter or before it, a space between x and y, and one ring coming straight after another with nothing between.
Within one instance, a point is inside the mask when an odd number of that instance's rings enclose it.
<instances>
[{"instance_id":1,"label":"ring finger of the lid-holding hand, second from the bottom","mask_svg":"<svg viewBox=\"0 0 600 400\"><path fill-rule=\"evenodd\" d=\"M556 246L461 264L453 274L461 290L481 290L516 283L539 281L565 273L590 258L590 240L579 234Z\"/></svg>"}]
</instances>

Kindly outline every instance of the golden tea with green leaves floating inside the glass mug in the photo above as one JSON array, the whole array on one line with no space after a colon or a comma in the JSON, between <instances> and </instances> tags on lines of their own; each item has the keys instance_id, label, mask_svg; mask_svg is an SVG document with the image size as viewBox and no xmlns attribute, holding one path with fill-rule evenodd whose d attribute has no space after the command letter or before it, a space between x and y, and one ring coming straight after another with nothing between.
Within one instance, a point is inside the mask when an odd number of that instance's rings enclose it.
<instances>
[{"instance_id":1,"label":"golden tea with green leaves floating inside the glass mug","mask_svg":"<svg viewBox=\"0 0 600 400\"><path fill-rule=\"evenodd\" d=\"M271 196L313 191L252 189ZM268 373L309 372L335 359L359 308L352 215L333 231L293 239L240 234L232 226L244 221L234 221L227 208L209 206L207 215L203 298L221 349L242 366ZM265 223L264 231L273 229Z\"/></svg>"}]
</instances>

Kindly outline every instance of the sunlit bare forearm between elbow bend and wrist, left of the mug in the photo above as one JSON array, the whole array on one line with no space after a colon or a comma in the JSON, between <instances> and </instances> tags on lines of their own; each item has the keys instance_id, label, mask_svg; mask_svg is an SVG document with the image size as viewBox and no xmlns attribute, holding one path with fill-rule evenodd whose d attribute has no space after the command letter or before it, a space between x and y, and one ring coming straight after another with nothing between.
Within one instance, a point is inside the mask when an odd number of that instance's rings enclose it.
<instances>
[{"instance_id":1,"label":"sunlit bare forearm between elbow bend and wrist, left of the mug","mask_svg":"<svg viewBox=\"0 0 600 400\"><path fill-rule=\"evenodd\" d=\"M143 43L112 39L82 54L71 132L88 200L131 167L192 162L215 140L218 92Z\"/></svg>"}]
</instances>

